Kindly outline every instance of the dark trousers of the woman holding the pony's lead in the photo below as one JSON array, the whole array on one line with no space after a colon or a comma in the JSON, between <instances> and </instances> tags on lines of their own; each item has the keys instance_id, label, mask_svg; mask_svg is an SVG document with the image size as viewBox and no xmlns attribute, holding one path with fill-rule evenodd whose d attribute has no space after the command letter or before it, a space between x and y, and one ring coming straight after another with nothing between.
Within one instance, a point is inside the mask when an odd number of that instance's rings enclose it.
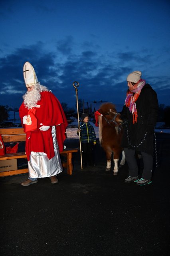
<instances>
[{"instance_id":1,"label":"dark trousers of the woman holding the pony's lead","mask_svg":"<svg viewBox=\"0 0 170 256\"><path fill-rule=\"evenodd\" d=\"M124 148L125 157L128 164L129 176L136 177L138 176L138 165L136 161L136 155L134 149ZM140 152L143 159L143 174L142 178L145 180L150 180L152 177L152 168L153 168L153 156L145 152Z\"/></svg>"}]
</instances>

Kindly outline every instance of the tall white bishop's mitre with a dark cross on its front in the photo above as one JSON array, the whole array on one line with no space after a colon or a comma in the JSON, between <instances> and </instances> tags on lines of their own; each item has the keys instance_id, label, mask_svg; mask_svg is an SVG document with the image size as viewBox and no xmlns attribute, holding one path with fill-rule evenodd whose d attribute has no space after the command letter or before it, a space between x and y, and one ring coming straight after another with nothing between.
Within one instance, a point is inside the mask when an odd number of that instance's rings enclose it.
<instances>
[{"instance_id":1,"label":"tall white bishop's mitre with a dark cross on its front","mask_svg":"<svg viewBox=\"0 0 170 256\"><path fill-rule=\"evenodd\" d=\"M36 76L36 72L30 62L26 62L23 67L23 75L24 81L26 83L26 87L32 86L33 84L38 84L38 78Z\"/></svg>"}]
</instances>

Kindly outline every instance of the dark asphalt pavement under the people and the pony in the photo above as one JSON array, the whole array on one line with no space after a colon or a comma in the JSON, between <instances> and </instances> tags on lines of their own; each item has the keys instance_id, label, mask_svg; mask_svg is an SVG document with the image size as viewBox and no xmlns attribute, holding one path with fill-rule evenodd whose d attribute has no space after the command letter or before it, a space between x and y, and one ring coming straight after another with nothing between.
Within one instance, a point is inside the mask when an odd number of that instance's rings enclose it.
<instances>
[{"instance_id":1,"label":"dark asphalt pavement under the people and the pony","mask_svg":"<svg viewBox=\"0 0 170 256\"><path fill-rule=\"evenodd\" d=\"M170 134L156 138L158 167L150 185L125 184L127 163L117 176L106 172L99 143L96 166L81 170L74 153L73 174L63 170L58 184L41 178L21 186L28 174L0 178L0 255L169 255ZM77 148L79 140L65 145Z\"/></svg>"}]
</instances>

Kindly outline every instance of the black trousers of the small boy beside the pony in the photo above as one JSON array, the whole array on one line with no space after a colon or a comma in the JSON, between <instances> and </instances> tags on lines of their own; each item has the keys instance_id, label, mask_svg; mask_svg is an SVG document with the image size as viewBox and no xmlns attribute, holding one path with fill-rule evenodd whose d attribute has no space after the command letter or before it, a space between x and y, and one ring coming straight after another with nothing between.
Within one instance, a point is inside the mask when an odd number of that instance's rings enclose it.
<instances>
[{"instance_id":1,"label":"black trousers of the small boy beside the pony","mask_svg":"<svg viewBox=\"0 0 170 256\"><path fill-rule=\"evenodd\" d=\"M95 164L94 154L93 154L93 142L81 143L81 152L82 152L83 165Z\"/></svg>"}]
</instances>

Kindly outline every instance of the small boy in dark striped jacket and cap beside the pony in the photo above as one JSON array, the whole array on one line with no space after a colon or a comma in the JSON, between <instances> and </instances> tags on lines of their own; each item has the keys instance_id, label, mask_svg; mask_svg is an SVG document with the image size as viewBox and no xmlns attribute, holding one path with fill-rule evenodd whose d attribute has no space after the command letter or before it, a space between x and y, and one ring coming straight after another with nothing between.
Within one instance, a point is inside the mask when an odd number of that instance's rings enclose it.
<instances>
[{"instance_id":1,"label":"small boy in dark striped jacket and cap beside the pony","mask_svg":"<svg viewBox=\"0 0 170 256\"><path fill-rule=\"evenodd\" d=\"M93 145L96 144L96 134L93 126L89 124L89 114L83 113L81 115L82 123L80 124L80 129L77 130L77 134L80 133L81 137L81 151L83 159L83 167L95 166L94 156L93 156Z\"/></svg>"}]
</instances>

